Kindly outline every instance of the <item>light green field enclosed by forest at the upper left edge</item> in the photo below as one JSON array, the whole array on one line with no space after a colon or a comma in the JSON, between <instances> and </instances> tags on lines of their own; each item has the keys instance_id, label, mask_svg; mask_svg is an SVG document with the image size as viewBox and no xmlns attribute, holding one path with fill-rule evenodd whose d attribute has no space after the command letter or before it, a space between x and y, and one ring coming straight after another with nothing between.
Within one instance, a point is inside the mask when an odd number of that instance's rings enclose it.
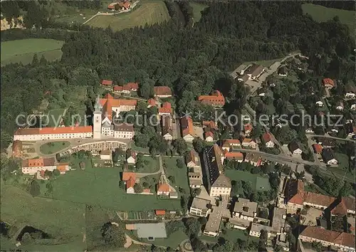
<instances>
[{"instance_id":1,"label":"light green field enclosed by forest at the upper left edge","mask_svg":"<svg viewBox=\"0 0 356 252\"><path fill-rule=\"evenodd\" d=\"M1 42L1 65L9 63L28 64L37 53L38 60L44 56L47 61L61 59L63 41L44 38L28 38Z\"/></svg>"}]
</instances>

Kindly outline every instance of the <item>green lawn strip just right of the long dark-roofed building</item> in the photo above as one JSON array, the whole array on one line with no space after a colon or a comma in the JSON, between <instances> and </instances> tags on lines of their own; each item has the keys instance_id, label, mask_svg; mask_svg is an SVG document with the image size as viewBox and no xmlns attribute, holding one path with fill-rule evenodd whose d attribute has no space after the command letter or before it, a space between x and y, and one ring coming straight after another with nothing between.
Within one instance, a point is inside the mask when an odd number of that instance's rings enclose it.
<instances>
[{"instance_id":1,"label":"green lawn strip just right of the long dark-roofed building","mask_svg":"<svg viewBox=\"0 0 356 252\"><path fill-rule=\"evenodd\" d=\"M226 169L225 175L231 180L249 181L252 188L257 191L268 191L271 189L268 178L261 177L258 174L251 174L250 172L239 171L236 169Z\"/></svg>"}]
</instances>

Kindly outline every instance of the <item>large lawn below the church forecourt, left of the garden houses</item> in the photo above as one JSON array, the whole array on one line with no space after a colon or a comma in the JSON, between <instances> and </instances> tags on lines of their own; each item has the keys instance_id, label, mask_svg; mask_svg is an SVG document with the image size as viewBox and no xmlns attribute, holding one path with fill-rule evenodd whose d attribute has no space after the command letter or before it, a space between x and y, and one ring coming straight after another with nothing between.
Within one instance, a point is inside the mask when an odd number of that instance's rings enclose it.
<instances>
[{"instance_id":1,"label":"large lawn below the church forecourt, left of the garden houses","mask_svg":"<svg viewBox=\"0 0 356 252\"><path fill-rule=\"evenodd\" d=\"M180 209L179 200L157 199L154 195L126 194L120 189L119 168L94 168L89 159L84 160L85 170L78 167L80 160L72 160L76 168L53 181L53 199L93 204L120 211L148 211L154 209Z\"/></svg>"}]
</instances>

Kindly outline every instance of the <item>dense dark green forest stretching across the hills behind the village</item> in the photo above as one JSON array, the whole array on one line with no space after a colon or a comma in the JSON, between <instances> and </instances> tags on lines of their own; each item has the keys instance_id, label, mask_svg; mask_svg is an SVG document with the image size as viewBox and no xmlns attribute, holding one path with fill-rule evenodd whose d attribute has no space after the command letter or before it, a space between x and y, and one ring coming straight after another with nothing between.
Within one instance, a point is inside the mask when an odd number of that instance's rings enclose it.
<instances>
[{"instance_id":1,"label":"dense dark green forest stretching across the hills behind the village","mask_svg":"<svg viewBox=\"0 0 356 252\"><path fill-rule=\"evenodd\" d=\"M13 8L6 6L9 3ZM281 58L297 50L309 57L315 75L355 78L355 42L347 26L337 18L317 23L303 16L301 2L206 2L209 8L194 27L189 25L189 6L179 4L184 26L169 7L172 3L166 4L171 16L168 22L113 32L110 27L59 25L41 2L1 2L5 16L18 15L16 6L31 14L24 18L27 29L1 31L1 41L65 41L60 62L36 59L30 65L1 67L1 148L11 142L16 116L36 109L47 91L85 86L90 90L91 107L101 78L138 81L143 97L152 95L154 85L168 85L174 90L178 113L201 109L195 101L197 95L216 88L229 100L224 109L239 112L248 89L232 80L229 72L245 61ZM211 107L203 109L211 111Z\"/></svg>"}]
</instances>

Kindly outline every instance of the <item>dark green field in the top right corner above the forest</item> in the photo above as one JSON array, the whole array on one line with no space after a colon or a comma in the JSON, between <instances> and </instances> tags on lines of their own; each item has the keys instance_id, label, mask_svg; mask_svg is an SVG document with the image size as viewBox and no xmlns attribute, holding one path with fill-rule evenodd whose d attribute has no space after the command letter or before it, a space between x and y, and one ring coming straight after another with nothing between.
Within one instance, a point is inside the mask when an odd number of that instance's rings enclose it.
<instances>
[{"instance_id":1,"label":"dark green field in the top right corner above the forest","mask_svg":"<svg viewBox=\"0 0 356 252\"><path fill-rule=\"evenodd\" d=\"M327 8L315 4L303 4L303 13L309 14L317 22L325 22L338 16L341 23L349 27L350 36L355 36L355 11Z\"/></svg>"}]
</instances>

